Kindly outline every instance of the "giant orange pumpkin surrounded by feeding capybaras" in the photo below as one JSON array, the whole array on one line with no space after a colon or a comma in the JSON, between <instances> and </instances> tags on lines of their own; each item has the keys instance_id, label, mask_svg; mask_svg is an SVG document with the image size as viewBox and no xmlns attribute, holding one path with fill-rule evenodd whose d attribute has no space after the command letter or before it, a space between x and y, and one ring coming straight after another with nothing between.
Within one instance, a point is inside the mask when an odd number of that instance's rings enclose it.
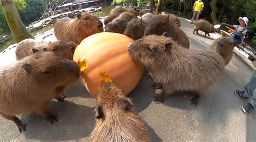
<instances>
[{"instance_id":1,"label":"giant orange pumpkin surrounded by feeding capybaras","mask_svg":"<svg viewBox=\"0 0 256 142\"><path fill-rule=\"evenodd\" d=\"M84 86L97 98L102 88L100 74L107 73L125 95L129 94L142 78L143 65L133 61L127 47L133 40L123 34L102 32L85 38L77 46L74 61L87 61L87 69L81 72Z\"/></svg>"}]
</instances>

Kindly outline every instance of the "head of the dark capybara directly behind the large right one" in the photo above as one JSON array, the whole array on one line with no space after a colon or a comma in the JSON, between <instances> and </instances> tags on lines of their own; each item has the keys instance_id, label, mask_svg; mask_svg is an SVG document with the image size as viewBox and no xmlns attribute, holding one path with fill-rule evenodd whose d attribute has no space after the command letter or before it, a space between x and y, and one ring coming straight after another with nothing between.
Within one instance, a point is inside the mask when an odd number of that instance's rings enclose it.
<instances>
[{"instance_id":1,"label":"head of the dark capybara directly behind the large right one","mask_svg":"<svg viewBox=\"0 0 256 142\"><path fill-rule=\"evenodd\" d=\"M169 20L170 15L156 15L153 16L147 25L144 35L149 36L150 34L162 35L164 32L172 30L173 25ZM170 34L170 33L168 33ZM170 35L168 35L170 36Z\"/></svg>"}]
</instances>

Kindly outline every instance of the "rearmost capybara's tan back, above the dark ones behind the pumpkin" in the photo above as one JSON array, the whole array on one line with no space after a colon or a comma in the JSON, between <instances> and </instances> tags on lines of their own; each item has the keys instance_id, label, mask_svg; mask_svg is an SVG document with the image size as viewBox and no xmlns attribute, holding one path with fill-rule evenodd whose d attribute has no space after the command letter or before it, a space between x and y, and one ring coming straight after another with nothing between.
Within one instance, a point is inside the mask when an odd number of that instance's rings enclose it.
<instances>
[{"instance_id":1,"label":"rearmost capybara's tan back, above the dark ones behind the pumpkin","mask_svg":"<svg viewBox=\"0 0 256 142\"><path fill-rule=\"evenodd\" d=\"M109 16L104 19L104 24L110 23L114 18L117 18L123 12L131 12L134 16L139 16L139 9L125 9L125 8L114 8L110 11Z\"/></svg>"}]
</instances>

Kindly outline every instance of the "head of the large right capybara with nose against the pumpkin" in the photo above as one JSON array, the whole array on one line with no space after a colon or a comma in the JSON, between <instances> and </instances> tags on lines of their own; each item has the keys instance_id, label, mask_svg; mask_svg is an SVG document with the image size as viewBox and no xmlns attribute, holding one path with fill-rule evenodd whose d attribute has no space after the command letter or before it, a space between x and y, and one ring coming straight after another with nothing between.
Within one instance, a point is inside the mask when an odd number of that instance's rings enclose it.
<instances>
[{"instance_id":1,"label":"head of the large right capybara with nose against the pumpkin","mask_svg":"<svg viewBox=\"0 0 256 142\"><path fill-rule=\"evenodd\" d=\"M170 60L172 41L167 38L165 32L163 36L150 35L133 41L128 46L128 53L135 61L142 63L146 67L156 67L163 61Z\"/></svg>"}]
</instances>

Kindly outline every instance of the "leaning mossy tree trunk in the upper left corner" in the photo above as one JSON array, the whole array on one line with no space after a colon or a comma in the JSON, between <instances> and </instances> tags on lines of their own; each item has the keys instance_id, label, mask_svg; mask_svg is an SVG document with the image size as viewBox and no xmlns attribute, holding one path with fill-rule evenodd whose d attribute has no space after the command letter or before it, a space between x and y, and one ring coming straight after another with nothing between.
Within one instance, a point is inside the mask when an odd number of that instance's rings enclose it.
<instances>
[{"instance_id":1,"label":"leaning mossy tree trunk in the upper left corner","mask_svg":"<svg viewBox=\"0 0 256 142\"><path fill-rule=\"evenodd\" d=\"M4 16L15 41L18 43L23 39L33 38L19 17L14 0L0 0L0 3L2 4Z\"/></svg>"}]
</instances>

